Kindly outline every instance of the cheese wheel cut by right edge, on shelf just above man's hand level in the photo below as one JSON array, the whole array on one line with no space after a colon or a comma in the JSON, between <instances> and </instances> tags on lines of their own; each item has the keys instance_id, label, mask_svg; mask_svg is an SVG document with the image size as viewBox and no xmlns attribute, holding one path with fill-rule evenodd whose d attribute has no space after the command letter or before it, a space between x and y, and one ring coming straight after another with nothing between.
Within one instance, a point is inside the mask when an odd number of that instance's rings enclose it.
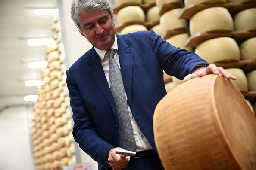
<instances>
[{"instance_id":1,"label":"cheese wheel cut by right edge, on shelf just above man's hand level","mask_svg":"<svg viewBox=\"0 0 256 170\"><path fill-rule=\"evenodd\" d=\"M255 21L256 22L256 21ZM241 60L256 60L256 37L240 43Z\"/></svg>"}]
</instances>

